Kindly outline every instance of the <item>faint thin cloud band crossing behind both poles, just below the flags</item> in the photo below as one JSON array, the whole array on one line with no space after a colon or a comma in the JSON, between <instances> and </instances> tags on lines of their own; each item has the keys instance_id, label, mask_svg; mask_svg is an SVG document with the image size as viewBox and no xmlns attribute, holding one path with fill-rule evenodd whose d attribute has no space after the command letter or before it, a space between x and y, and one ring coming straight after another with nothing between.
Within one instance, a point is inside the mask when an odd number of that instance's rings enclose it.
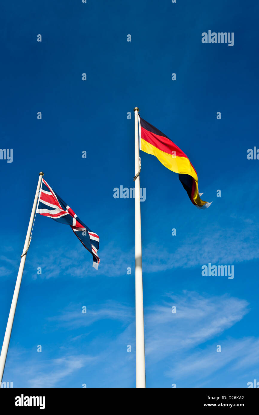
<instances>
[{"instance_id":1,"label":"faint thin cloud band crossing behind both poles, just below the flags","mask_svg":"<svg viewBox=\"0 0 259 415\"><path fill-rule=\"evenodd\" d=\"M192 243L186 238L178 244L173 252L168 247L161 249L155 242L150 242L143 249L143 272L155 273L168 271L176 268L192 268L207 264L233 264L243 261L251 261L259 258L259 247L257 243L257 225L252 227L244 225L242 228L234 229L203 229L200 234L192 238ZM212 237L213 235L213 237ZM201 249L202 247L202 249ZM157 253L159 252L159 255ZM44 269L44 273L36 274L39 264ZM32 272L36 278L57 278L70 276L82 278L87 275L96 275L96 270L92 270L91 258L87 258L81 252L67 253L59 249L55 251L45 251L44 257L39 261L37 257L28 261L28 268L25 272ZM121 276L126 272L127 267L134 266L134 250L123 251L114 248L109 244L102 249L101 264L98 275L111 277ZM10 265L13 270L13 265ZM10 275L10 268L5 265L3 276Z\"/></svg>"}]
</instances>

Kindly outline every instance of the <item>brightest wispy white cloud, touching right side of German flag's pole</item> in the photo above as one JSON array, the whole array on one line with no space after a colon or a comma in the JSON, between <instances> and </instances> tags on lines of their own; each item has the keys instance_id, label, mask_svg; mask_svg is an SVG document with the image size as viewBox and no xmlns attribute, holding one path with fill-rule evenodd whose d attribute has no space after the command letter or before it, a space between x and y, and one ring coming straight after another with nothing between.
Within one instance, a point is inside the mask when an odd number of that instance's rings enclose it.
<instances>
[{"instance_id":1,"label":"brightest wispy white cloud, touching right side of German flag's pole","mask_svg":"<svg viewBox=\"0 0 259 415\"><path fill-rule=\"evenodd\" d=\"M149 309L146 315L146 353L160 360L170 355L172 349L192 349L232 327L247 312L247 301L227 295L171 295L170 303Z\"/></svg>"}]
</instances>

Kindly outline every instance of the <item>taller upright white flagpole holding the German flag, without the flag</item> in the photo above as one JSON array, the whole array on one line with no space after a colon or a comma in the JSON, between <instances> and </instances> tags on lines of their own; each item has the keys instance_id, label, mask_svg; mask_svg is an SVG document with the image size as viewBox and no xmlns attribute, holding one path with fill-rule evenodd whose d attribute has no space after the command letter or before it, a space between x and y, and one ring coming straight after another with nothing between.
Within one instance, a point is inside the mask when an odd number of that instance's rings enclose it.
<instances>
[{"instance_id":1,"label":"taller upright white flagpole holding the German flag, without the flag","mask_svg":"<svg viewBox=\"0 0 259 415\"><path fill-rule=\"evenodd\" d=\"M140 160L138 143L138 111L135 112L135 289L136 289L136 388L146 388L141 212L140 212ZM137 176L137 177L136 177Z\"/></svg>"}]
</instances>

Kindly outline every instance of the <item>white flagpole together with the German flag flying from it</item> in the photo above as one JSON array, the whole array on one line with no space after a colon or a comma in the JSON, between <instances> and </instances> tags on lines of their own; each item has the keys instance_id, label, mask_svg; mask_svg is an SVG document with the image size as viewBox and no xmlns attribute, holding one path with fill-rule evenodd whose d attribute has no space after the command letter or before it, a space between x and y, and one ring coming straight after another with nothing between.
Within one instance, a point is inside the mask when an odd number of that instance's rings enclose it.
<instances>
[{"instance_id":1,"label":"white flagpole together with the German flag flying from it","mask_svg":"<svg viewBox=\"0 0 259 415\"><path fill-rule=\"evenodd\" d=\"M198 176L190 159L163 132L135 112L135 279L136 279L136 388L146 388L145 342L143 317L143 284L141 254L140 183L141 158L139 151L155 156L169 170L178 173L178 178L193 205L207 209L212 202L205 202L198 189Z\"/></svg>"}]
</instances>

